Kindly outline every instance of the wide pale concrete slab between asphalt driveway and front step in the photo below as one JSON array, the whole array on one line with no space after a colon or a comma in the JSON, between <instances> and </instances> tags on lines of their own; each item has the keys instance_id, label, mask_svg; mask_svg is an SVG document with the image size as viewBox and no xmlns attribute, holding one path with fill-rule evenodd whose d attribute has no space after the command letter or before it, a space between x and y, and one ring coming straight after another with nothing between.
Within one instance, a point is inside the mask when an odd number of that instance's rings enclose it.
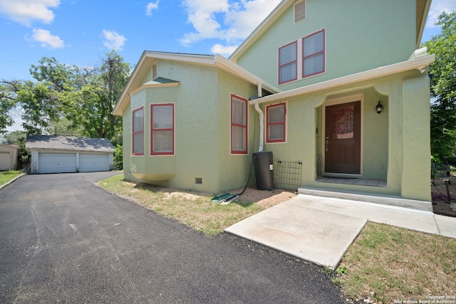
<instances>
[{"instance_id":1,"label":"wide pale concrete slab between asphalt driveway and front step","mask_svg":"<svg viewBox=\"0 0 456 304\"><path fill-rule=\"evenodd\" d=\"M366 219L307 208L301 198L295 198L250 216L225 231L336 268L365 224Z\"/></svg>"}]
</instances>

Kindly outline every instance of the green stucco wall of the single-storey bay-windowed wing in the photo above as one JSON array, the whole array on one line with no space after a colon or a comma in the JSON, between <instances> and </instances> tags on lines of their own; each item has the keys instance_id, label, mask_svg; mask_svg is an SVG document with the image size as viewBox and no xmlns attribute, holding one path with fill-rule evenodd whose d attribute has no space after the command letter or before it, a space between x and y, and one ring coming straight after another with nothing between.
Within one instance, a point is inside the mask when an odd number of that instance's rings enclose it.
<instances>
[{"instance_id":1,"label":"green stucco wall of the single-storey bay-windowed wing","mask_svg":"<svg viewBox=\"0 0 456 304\"><path fill-rule=\"evenodd\" d=\"M159 61L158 66L160 77L180 83L145 88L131 96L123 113L125 178L210 193L243 187L256 120L249 107L249 154L231 155L230 94L248 99L256 94L256 87L217 68L169 61ZM174 155L150 155L150 105L154 103L175 104ZM145 111L145 151L133 156L132 111L140 107Z\"/></svg>"}]
</instances>

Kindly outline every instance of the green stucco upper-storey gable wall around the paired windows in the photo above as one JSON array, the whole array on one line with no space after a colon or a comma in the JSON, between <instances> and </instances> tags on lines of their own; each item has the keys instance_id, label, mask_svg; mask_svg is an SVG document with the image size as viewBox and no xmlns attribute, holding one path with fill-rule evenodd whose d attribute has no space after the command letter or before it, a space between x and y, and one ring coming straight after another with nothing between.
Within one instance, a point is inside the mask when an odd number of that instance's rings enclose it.
<instances>
[{"instance_id":1,"label":"green stucco upper-storey gable wall around the paired windows","mask_svg":"<svg viewBox=\"0 0 456 304\"><path fill-rule=\"evenodd\" d=\"M237 63L277 85L278 48L323 28L326 73L279 85L281 90L406 61L415 51L415 6L415 0L308 0L307 18L294 24L291 5Z\"/></svg>"}]
</instances>

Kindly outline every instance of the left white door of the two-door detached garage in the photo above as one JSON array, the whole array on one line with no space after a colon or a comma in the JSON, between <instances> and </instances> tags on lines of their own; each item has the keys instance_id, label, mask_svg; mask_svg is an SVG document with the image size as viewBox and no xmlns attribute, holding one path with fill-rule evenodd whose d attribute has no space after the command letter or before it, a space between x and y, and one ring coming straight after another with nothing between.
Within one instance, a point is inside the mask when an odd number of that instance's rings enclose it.
<instances>
[{"instance_id":1,"label":"left white door of the two-door detached garage","mask_svg":"<svg viewBox=\"0 0 456 304\"><path fill-rule=\"evenodd\" d=\"M76 153L39 153L38 173L76 172Z\"/></svg>"}]
</instances>

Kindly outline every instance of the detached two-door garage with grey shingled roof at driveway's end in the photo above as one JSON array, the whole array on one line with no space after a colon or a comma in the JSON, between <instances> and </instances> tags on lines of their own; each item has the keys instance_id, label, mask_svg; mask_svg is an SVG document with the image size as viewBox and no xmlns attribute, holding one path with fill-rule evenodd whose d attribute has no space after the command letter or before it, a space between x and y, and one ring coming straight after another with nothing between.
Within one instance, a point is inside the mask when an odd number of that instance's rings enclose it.
<instances>
[{"instance_id":1,"label":"detached two-door garage with grey shingled roof at driveway's end","mask_svg":"<svg viewBox=\"0 0 456 304\"><path fill-rule=\"evenodd\" d=\"M27 135L31 173L99 172L113 169L113 144L105 138Z\"/></svg>"}]
</instances>

